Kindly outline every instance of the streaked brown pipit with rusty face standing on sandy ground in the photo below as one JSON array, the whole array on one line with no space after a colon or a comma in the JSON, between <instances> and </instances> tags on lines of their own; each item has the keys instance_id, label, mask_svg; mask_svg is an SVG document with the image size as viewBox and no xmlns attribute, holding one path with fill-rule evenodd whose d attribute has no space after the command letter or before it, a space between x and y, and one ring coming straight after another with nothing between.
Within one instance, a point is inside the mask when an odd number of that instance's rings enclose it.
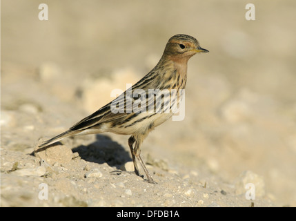
<instances>
[{"instance_id":1,"label":"streaked brown pipit with rusty face standing on sandy ground","mask_svg":"<svg viewBox=\"0 0 296 221\"><path fill-rule=\"evenodd\" d=\"M172 36L168 40L166 48L164 49L164 54L158 64L147 75L132 86L132 91L141 89L148 95L149 89L166 89L169 91L175 89L179 94L179 90L184 89L186 86L188 59L197 52L208 52L208 50L201 48L197 39L189 35ZM127 90L123 95L126 97ZM121 101L124 102L124 108L127 110L128 99L121 99ZM136 101L137 97L132 97L130 100L132 106ZM161 99L161 107L164 106L164 102L166 102L166 99ZM170 108L172 105L176 104L176 102L179 104L179 99L173 99L170 102ZM157 102L152 102L153 105L156 105L156 103ZM168 104L168 102L166 102L166 104ZM136 162L137 159L146 173L148 182L155 184L155 181L152 179L143 160L141 159L140 147L148 133L156 126L166 122L166 120L170 119L172 115L172 111L166 111L166 113L164 113L164 111L150 111L148 113L143 111L125 111L124 113L114 113L114 111L112 111L112 102L110 102L95 113L92 113L92 115L81 119L80 122L69 128L68 131L43 142L39 148L43 149L50 144L73 135L86 135L103 132L131 135L128 139L128 146L130 146L130 153L132 155L135 173L136 175L141 176Z\"/></svg>"}]
</instances>

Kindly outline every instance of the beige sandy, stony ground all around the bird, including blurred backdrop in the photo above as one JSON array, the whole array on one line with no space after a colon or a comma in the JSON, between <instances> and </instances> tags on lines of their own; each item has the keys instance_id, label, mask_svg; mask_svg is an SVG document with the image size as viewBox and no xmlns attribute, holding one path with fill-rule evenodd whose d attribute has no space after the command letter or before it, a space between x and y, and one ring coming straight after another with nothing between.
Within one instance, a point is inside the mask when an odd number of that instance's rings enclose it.
<instances>
[{"instance_id":1,"label":"beige sandy, stony ground all around the bird, including blurred backdrop","mask_svg":"<svg viewBox=\"0 0 296 221\"><path fill-rule=\"evenodd\" d=\"M255 21L244 1L149 2L42 1L39 21L41 2L1 1L1 206L296 206L295 1L255 1ZM144 140L157 184L130 171L128 136L30 155L179 33L210 53L188 62L185 119Z\"/></svg>"}]
</instances>

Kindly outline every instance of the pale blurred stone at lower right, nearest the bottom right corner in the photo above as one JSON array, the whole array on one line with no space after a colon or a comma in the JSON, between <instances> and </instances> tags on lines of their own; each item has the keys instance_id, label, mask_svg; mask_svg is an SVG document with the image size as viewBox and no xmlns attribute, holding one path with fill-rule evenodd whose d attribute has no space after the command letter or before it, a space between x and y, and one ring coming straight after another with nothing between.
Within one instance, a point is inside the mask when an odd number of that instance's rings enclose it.
<instances>
[{"instance_id":1,"label":"pale blurred stone at lower right, nearest the bottom right corner","mask_svg":"<svg viewBox=\"0 0 296 221\"><path fill-rule=\"evenodd\" d=\"M265 184L262 176L253 173L252 171L244 171L237 177L235 182L235 194L246 194L249 190L247 184L253 184L255 186L255 198L257 196L262 197L265 195Z\"/></svg>"}]
</instances>

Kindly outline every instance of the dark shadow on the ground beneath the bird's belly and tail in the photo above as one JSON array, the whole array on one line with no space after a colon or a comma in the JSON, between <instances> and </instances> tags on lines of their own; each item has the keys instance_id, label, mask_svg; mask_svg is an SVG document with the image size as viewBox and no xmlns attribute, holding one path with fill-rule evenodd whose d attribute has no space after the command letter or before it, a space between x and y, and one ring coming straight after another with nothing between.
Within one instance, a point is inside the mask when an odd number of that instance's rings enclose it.
<instances>
[{"instance_id":1,"label":"dark shadow on the ground beneath the bird's belly and tail","mask_svg":"<svg viewBox=\"0 0 296 221\"><path fill-rule=\"evenodd\" d=\"M106 135L96 135L96 141L87 146L80 145L72 148L72 152L79 153L81 159L98 164L107 163L109 166L120 166L131 161L130 153L126 148L110 139Z\"/></svg>"}]
</instances>

